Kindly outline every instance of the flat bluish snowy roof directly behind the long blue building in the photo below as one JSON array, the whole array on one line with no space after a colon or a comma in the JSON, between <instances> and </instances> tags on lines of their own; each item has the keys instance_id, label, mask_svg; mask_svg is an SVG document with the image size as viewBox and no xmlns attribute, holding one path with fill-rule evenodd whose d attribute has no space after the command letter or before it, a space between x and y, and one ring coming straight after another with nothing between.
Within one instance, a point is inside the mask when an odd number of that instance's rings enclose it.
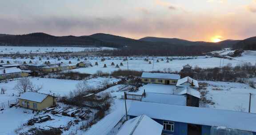
<instances>
[{"instance_id":1,"label":"flat bluish snowy roof directly behind the long blue building","mask_svg":"<svg viewBox=\"0 0 256 135\"><path fill-rule=\"evenodd\" d=\"M185 106L187 103L187 98L184 95L172 95L172 94L146 92L146 96L143 97L141 101Z\"/></svg>"}]
</instances>

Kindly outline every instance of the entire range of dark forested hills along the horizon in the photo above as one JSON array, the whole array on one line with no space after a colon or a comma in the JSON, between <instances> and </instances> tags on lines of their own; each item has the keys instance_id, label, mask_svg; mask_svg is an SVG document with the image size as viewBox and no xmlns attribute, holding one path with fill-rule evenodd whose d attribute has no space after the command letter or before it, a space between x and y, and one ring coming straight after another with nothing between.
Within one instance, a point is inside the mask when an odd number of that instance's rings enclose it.
<instances>
[{"instance_id":1,"label":"entire range of dark forested hills along the horizon","mask_svg":"<svg viewBox=\"0 0 256 135\"><path fill-rule=\"evenodd\" d=\"M239 48L253 42L255 37L246 40L224 40L218 43L204 41L189 41L178 38L144 37L139 40L105 33L96 33L89 36L52 36L42 32L8 35L0 34L0 45L14 46L105 46L114 48L123 47L179 47L179 46L218 46L221 48Z\"/></svg>"}]
</instances>

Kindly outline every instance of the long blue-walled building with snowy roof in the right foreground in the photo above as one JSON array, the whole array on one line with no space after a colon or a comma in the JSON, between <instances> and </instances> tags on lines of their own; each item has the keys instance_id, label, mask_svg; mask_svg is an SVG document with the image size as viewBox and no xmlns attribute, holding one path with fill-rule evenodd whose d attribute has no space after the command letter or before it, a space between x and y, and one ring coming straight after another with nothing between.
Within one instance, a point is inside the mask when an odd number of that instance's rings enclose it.
<instances>
[{"instance_id":1,"label":"long blue-walled building with snowy roof in the right foreground","mask_svg":"<svg viewBox=\"0 0 256 135\"><path fill-rule=\"evenodd\" d=\"M256 135L256 114L252 113L163 103L132 102L128 111L129 118L133 119L143 114L164 126L162 135L212 135L212 129L216 127L248 133L244 135Z\"/></svg>"}]
</instances>

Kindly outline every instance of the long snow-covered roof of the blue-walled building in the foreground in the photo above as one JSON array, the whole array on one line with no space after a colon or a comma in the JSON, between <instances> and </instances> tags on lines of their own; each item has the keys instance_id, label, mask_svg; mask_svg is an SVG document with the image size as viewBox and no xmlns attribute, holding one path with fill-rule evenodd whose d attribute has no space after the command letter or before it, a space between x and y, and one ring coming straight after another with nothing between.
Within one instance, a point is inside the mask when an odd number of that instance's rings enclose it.
<instances>
[{"instance_id":1,"label":"long snow-covered roof of the blue-walled building in the foreground","mask_svg":"<svg viewBox=\"0 0 256 135\"><path fill-rule=\"evenodd\" d=\"M132 102L128 115L256 132L256 114L163 103Z\"/></svg>"}]
</instances>

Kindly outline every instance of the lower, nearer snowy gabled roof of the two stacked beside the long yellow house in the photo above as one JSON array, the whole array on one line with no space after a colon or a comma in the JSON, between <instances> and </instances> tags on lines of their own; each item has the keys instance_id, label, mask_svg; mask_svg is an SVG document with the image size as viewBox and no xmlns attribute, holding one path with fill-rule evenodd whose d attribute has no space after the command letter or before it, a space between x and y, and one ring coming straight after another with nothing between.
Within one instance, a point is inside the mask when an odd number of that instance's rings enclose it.
<instances>
[{"instance_id":1,"label":"lower, nearer snowy gabled roof of the two stacked beside the long yellow house","mask_svg":"<svg viewBox=\"0 0 256 135\"><path fill-rule=\"evenodd\" d=\"M201 98L200 92L191 87L178 87L177 89L174 90L174 94L176 95L188 94L188 95L193 95L199 99Z\"/></svg>"}]
</instances>

